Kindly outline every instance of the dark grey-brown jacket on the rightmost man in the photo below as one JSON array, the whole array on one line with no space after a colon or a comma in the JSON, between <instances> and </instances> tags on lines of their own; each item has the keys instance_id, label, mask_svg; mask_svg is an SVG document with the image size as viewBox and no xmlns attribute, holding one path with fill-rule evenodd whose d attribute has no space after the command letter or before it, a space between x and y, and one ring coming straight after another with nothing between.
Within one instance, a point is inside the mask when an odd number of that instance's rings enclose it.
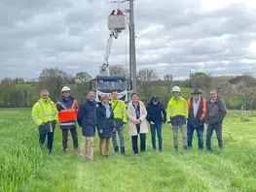
<instances>
[{"instance_id":1,"label":"dark grey-brown jacket on the rightmost man","mask_svg":"<svg viewBox=\"0 0 256 192\"><path fill-rule=\"evenodd\" d=\"M205 122L209 124L222 123L223 119L227 114L227 108L222 99L219 97L214 103L207 101L206 104L207 112Z\"/></svg>"}]
</instances>

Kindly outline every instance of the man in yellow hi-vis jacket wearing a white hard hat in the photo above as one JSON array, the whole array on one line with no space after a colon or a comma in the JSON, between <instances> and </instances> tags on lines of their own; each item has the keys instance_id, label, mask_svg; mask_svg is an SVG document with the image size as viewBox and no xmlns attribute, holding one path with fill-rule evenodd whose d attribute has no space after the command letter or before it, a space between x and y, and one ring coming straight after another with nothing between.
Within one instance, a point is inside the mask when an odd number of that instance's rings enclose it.
<instances>
[{"instance_id":1,"label":"man in yellow hi-vis jacket wearing a white hard hat","mask_svg":"<svg viewBox=\"0 0 256 192\"><path fill-rule=\"evenodd\" d=\"M180 96L180 87L172 88L173 97L167 105L167 123L173 131L174 147L178 149L178 128L182 132L183 148L188 148L187 140L187 118L188 118L188 103Z\"/></svg>"}]
</instances>

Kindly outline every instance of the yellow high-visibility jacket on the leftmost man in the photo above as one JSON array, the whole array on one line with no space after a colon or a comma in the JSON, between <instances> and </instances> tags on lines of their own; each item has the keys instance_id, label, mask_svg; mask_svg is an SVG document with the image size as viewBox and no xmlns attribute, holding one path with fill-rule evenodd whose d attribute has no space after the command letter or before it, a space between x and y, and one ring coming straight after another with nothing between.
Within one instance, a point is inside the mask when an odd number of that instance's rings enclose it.
<instances>
[{"instance_id":1,"label":"yellow high-visibility jacket on the leftmost man","mask_svg":"<svg viewBox=\"0 0 256 192\"><path fill-rule=\"evenodd\" d=\"M57 120L55 103L51 99L39 99L32 108L32 119L37 126L48 121Z\"/></svg>"}]
</instances>

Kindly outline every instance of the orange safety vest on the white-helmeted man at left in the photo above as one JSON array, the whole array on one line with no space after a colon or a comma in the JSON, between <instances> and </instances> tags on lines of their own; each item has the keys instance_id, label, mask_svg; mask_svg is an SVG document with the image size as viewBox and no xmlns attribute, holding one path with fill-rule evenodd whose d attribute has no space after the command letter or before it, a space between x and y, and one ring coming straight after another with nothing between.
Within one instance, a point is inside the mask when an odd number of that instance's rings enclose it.
<instances>
[{"instance_id":1,"label":"orange safety vest on the white-helmeted man at left","mask_svg":"<svg viewBox=\"0 0 256 192\"><path fill-rule=\"evenodd\" d=\"M76 121L77 120L77 113L78 113L78 103L74 100L71 109L66 109L66 107L61 103L57 102L64 110L58 112L58 121L59 123L66 122L66 121Z\"/></svg>"}]
</instances>

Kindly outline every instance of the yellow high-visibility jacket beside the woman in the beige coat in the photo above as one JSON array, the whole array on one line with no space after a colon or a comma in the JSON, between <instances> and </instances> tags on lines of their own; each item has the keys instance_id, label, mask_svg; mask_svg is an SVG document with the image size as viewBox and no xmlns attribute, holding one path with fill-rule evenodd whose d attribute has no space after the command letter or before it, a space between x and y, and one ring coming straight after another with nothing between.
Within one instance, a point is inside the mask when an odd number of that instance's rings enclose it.
<instances>
[{"instance_id":1,"label":"yellow high-visibility jacket beside the woman in the beige coat","mask_svg":"<svg viewBox=\"0 0 256 192\"><path fill-rule=\"evenodd\" d=\"M111 100L110 104L114 110L114 118L123 119L123 123L127 123L127 107L124 101L122 100Z\"/></svg>"}]
</instances>

